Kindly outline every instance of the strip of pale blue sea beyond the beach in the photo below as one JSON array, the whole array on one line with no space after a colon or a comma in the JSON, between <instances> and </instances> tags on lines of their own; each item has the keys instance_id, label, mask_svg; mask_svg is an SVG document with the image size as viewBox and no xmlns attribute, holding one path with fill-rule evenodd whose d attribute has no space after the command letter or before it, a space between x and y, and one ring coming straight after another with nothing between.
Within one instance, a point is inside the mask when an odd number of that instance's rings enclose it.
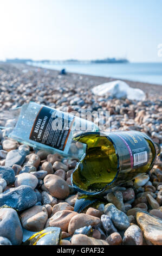
<instances>
[{"instance_id":1,"label":"strip of pale blue sea beyond the beach","mask_svg":"<svg viewBox=\"0 0 162 256\"><path fill-rule=\"evenodd\" d=\"M112 77L162 86L161 63L44 63L28 62L33 66L77 74Z\"/></svg>"}]
</instances>

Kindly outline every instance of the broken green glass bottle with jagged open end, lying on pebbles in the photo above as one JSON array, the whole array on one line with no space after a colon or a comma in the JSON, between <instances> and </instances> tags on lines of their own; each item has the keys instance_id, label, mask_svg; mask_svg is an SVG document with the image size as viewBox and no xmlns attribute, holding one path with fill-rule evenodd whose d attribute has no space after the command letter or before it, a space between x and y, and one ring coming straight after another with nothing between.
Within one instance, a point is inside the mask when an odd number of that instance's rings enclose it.
<instances>
[{"instance_id":1,"label":"broken green glass bottle with jagged open end, lying on pebbles","mask_svg":"<svg viewBox=\"0 0 162 256\"><path fill-rule=\"evenodd\" d=\"M153 167L155 145L138 131L87 132L73 138L87 145L72 174L73 187L87 195L104 194Z\"/></svg>"}]
</instances>

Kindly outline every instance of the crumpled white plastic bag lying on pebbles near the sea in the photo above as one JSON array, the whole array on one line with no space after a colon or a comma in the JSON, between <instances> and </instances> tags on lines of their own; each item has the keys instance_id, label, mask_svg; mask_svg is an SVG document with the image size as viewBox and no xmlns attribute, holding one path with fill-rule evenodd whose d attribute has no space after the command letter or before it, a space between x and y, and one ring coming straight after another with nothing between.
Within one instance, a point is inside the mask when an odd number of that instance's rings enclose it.
<instances>
[{"instance_id":1,"label":"crumpled white plastic bag lying on pebbles near the sea","mask_svg":"<svg viewBox=\"0 0 162 256\"><path fill-rule=\"evenodd\" d=\"M100 84L92 89L92 92L98 96L111 95L120 99L125 97L129 100L145 100L145 93L140 89L131 88L127 83L116 80Z\"/></svg>"}]
</instances>

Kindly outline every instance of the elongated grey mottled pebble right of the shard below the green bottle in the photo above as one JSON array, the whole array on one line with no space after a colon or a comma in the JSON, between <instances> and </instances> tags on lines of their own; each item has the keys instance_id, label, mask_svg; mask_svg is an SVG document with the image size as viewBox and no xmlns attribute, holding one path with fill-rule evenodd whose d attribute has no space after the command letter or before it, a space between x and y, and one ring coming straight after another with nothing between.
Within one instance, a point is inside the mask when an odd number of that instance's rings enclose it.
<instances>
[{"instance_id":1,"label":"elongated grey mottled pebble right of the shard below the green bottle","mask_svg":"<svg viewBox=\"0 0 162 256\"><path fill-rule=\"evenodd\" d=\"M105 205L104 213L111 218L117 229L126 230L129 227L130 223L128 216L124 212L118 210L112 203Z\"/></svg>"}]
</instances>

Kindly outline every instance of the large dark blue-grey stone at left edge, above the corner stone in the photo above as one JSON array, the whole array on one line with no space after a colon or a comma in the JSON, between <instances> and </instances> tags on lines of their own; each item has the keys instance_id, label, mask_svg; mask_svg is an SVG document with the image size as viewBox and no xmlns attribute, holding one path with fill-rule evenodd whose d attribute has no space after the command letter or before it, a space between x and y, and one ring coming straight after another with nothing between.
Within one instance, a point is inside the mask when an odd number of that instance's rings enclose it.
<instances>
[{"instance_id":1,"label":"large dark blue-grey stone at left edge, above the corner stone","mask_svg":"<svg viewBox=\"0 0 162 256\"><path fill-rule=\"evenodd\" d=\"M18 211L23 211L37 203L37 196L29 186L10 188L0 194L0 206L8 205Z\"/></svg>"}]
</instances>

